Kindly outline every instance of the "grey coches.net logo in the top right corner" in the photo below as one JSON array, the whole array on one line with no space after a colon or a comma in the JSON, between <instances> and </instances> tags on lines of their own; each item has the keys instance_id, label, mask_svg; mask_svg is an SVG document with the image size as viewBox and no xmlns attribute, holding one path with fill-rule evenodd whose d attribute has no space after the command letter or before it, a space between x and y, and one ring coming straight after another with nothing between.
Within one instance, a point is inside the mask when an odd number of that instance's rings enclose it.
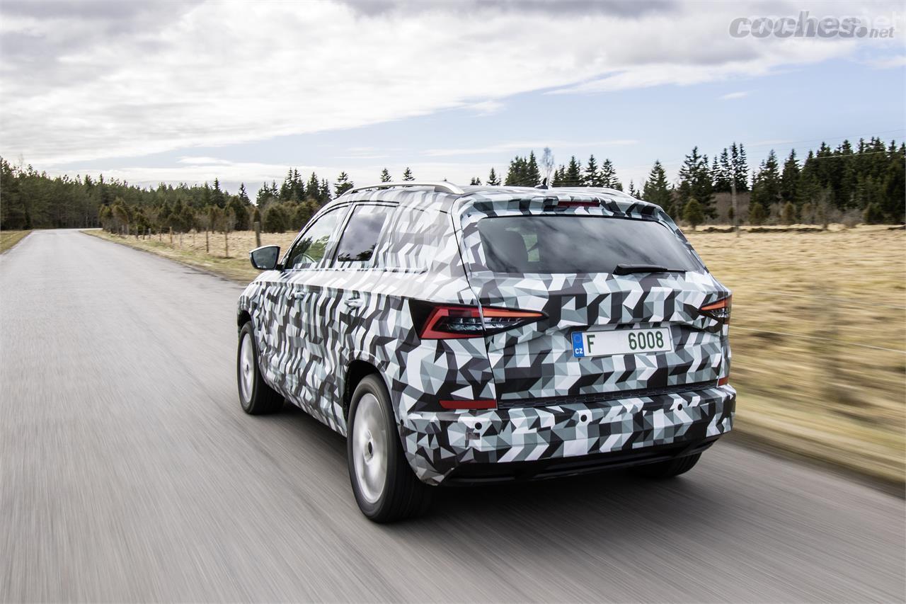
<instances>
[{"instance_id":1,"label":"grey coches.net logo in the top right corner","mask_svg":"<svg viewBox=\"0 0 906 604\"><path fill-rule=\"evenodd\" d=\"M749 35L756 38L892 38L898 20L899 15L817 17L801 11L797 17L737 17L730 22L730 35L734 38Z\"/></svg>"}]
</instances>

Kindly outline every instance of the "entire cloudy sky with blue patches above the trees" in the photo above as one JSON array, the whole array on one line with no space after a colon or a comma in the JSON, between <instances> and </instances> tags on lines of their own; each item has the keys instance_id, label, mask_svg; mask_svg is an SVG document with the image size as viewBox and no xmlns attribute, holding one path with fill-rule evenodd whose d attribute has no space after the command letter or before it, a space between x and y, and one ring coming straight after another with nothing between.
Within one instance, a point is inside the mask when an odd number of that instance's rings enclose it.
<instances>
[{"instance_id":1,"label":"entire cloudy sky with blue patches above the trees","mask_svg":"<svg viewBox=\"0 0 906 604\"><path fill-rule=\"evenodd\" d=\"M858 16L892 38L733 37ZM881 21L879 21L881 20ZM0 154L135 183L467 181L516 153L671 178L692 145L755 164L906 137L899 2L0 2Z\"/></svg>"}]
</instances>

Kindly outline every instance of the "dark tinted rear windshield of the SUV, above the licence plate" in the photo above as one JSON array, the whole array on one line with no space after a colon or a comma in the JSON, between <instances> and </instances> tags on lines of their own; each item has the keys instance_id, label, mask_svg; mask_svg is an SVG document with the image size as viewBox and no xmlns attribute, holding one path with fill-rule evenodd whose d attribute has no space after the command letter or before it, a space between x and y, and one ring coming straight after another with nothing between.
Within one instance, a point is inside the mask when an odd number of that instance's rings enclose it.
<instances>
[{"instance_id":1,"label":"dark tinted rear windshield of the SUV, above the licence plate","mask_svg":"<svg viewBox=\"0 0 906 604\"><path fill-rule=\"evenodd\" d=\"M701 270L660 222L602 216L513 216L478 221L496 273L612 273L618 264Z\"/></svg>"}]
</instances>

